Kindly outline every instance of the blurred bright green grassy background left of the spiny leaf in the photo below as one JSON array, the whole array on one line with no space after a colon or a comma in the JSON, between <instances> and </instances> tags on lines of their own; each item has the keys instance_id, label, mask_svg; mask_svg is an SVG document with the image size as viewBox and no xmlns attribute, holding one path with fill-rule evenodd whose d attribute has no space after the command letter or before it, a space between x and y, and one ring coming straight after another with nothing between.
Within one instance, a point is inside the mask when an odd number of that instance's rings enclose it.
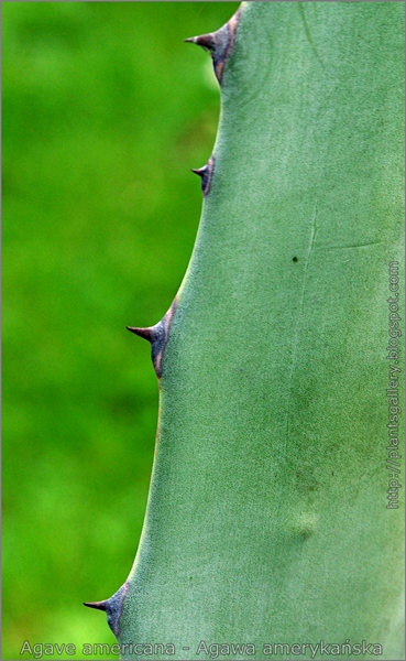
<instances>
[{"instance_id":1,"label":"blurred bright green grassy background left of the spiny leaf","mask_svg":"<svg viewBox=\"0 0 406 661\"><path fill-rule=\"evenodd\" d=\"M81 602L125 581L147 497L158 390L125 325L165 314L200 216L220 99L183 40L237 8L2 3L3 659L116 642Z\"/></svg>"}]
</instances>

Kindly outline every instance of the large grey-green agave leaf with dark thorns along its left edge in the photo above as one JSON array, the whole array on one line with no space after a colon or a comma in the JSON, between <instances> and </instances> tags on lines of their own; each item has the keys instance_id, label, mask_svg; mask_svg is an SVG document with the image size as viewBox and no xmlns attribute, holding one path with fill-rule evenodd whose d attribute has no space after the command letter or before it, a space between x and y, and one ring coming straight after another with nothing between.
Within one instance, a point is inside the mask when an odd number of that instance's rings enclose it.
<instances>
[{"instance_id":1,"label":"large grey-green agave leaf with dark thorns along its left edge","mask_svg":"<svg viewBox=\"0 0 406 661\"><path fill-rule=\"evenodd\" d=\"M250 643L211 657L263 659L266 643L320 641L403 658L386 467L403 13L252 2L200 40L221 120L161 347L151 492L117 617L124 659L139 658L130 643L171 643L154 658L176 659Z\"/></svg>"}]
</instances>

